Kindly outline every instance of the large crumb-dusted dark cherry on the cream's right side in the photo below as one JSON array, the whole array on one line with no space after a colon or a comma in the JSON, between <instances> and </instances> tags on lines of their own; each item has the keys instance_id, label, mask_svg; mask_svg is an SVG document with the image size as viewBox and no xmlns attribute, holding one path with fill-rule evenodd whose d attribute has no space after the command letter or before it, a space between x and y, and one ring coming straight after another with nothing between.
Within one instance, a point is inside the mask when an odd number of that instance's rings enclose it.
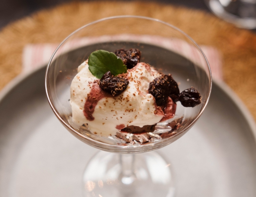
<instances>
[{"instance_id":1,"label":"large crumb-dusted dark cherry on the cream's right side","mask_svg":"<svg viewBox=\"0 0 256 197\"><path fill-rule=\"evenodd\" d=\"M168 96L174 102L178 101L180 90L172 76L164 74L149 83L148 93L154 96L158 106L164 107Z\"/></svg>"}]
</instances>

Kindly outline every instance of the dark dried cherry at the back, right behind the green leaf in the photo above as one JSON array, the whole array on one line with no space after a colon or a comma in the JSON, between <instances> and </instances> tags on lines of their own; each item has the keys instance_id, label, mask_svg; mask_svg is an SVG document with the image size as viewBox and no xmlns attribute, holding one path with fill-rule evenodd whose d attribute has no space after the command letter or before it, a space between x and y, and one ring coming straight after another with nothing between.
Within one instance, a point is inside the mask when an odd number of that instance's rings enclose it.
<instances>
[{"instance_id":1,"label":"dark dried cherry at the back, right behind the green leaf","mask_svg":"<svg viewBox=\"0 0 256 197\"><path fill-rule=\"evenodd\" d=\"M141 52L139 49L130 49L130 50L119 49L115 51L115 54L118 58L122 59L127 69L131 69L134 66L136 66L137 63L140 61L140 56L141 56Z\"/></svg>"}]
</instances>

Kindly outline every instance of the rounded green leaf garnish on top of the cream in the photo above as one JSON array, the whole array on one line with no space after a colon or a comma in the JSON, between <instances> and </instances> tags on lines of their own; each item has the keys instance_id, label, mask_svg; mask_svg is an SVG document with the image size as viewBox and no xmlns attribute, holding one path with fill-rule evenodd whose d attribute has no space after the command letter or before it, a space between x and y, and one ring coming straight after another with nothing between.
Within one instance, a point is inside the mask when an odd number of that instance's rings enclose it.
<instances>
[{"instance_id":1,"label":"rounded green leaf garnish on top of the cream","mask_svg":"<svg viewBox=\"0 0 256 197\"><path fill-rule=\"evenodd\" d=\"M88 60L89 70L93 76L100 79L106 72L117 76L118 74L127 73L127 67L123 61L108 51L98 50L90 54Z\"/></svg>"}]
</instances>

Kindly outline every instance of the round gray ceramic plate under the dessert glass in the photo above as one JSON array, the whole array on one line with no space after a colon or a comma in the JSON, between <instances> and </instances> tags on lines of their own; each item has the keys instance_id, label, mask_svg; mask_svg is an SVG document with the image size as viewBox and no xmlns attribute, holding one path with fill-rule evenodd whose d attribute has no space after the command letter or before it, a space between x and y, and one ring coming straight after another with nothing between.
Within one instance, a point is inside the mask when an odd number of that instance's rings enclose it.
<instances>
[{"instance_id":1,"label":"round gray ceramic plate under the dessert glass","mask_svg":"<svg viewBox=\"0 0 256 197\"><path fill-rule=\"evenodd\" d=\"M98 150L57 120L46 100L45 67L0 94L0 197L82 196L84 167ZM172 163L177 197L255 197L256 127L237 96L213 83L195 126L159 150Z\"/></svg>"}]
</instances>

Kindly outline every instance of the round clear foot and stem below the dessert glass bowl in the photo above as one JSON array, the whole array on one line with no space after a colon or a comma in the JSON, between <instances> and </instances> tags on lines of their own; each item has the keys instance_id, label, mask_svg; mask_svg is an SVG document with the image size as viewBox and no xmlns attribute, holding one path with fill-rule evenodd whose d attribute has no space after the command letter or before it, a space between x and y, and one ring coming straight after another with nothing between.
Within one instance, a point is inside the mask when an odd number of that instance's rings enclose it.
<instances>
[{"instance_id":1,"label":"round clear foot and stem below the dessert glass bowl","mask_svg":"<svg viewBox=\"0 0 256 197\"><path fill-rule=\"evenodd\" d=\"M85 197L173 197L170 163L157 152L114 154L99 151L83 174Z\"/></svg>"}]
</instances>

